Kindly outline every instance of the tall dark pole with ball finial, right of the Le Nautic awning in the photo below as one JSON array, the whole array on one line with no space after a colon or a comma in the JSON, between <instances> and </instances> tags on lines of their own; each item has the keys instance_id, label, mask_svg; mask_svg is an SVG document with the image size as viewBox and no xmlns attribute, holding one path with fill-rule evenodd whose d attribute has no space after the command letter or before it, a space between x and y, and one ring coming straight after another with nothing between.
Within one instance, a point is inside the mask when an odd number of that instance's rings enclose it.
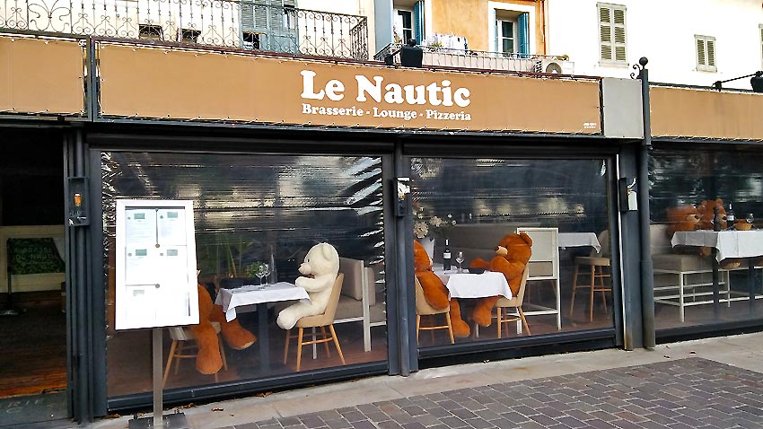
<instances>
[{"instance_id":1,"label":"tall dark pole with ball finial, right of the Le Nautic awning","mask_svg":"<svg viewBox=\"0 0 763 429\"><path fill-rule=\"evenodd\" d=\"M649 150L652 149L652 125L649 107L649 60L638 60L638 79L641 80L642 118L644 139L638 149L638 217L641 226L641 320L644 348L653 349L654 342L654 278L649 238Z\"/></svg>"}]
</instances>

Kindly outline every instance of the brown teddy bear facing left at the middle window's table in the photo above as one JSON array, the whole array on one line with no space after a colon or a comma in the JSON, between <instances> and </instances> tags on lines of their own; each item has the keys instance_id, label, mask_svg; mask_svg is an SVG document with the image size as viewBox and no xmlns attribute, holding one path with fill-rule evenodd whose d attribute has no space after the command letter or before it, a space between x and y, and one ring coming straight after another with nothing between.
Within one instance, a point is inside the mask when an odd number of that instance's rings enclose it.
<instances>
[{"instance_id":1,"label":"brown teddy bear facing left at the middle window's table","mask_svg":"<svg viewBox=\"0 0 763 429\"><path fill-rule=\"evenodd\" d=\"M522 283L522 273L524 273L525 267L527 267L527 263L532 256L531 247L532 239L527 233L507 234L498 242L495 258L492 258L490 262L482 258L474 259L470 267L487 268L496 273L503 273L506 281L509 282L512 293L516 295L519 293L520 284ZM498 298L500 296L488 296L487 298L481 298L477 302L472 312L472 319L479 326L490 326L492 322L491 313L496 306Z\"/></svg>"}]
</instances>

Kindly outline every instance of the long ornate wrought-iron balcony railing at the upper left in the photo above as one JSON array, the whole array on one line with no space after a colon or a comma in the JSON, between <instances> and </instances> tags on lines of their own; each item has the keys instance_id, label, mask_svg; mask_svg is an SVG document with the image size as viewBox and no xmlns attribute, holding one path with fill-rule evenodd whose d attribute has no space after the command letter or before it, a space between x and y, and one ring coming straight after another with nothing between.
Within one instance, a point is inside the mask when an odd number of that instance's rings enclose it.
<instances>
[{"instance_id":1,"label":"long ornate wrought-iron balcony railing at the upper left","mask_svg":"<svg viewBox=\"0 0 763 429\"><path fill-rule=\"evenodd\" d=\"M366 17L261 0L0 0L2 30L368 59Z\"/></svg>"}]
</instances>

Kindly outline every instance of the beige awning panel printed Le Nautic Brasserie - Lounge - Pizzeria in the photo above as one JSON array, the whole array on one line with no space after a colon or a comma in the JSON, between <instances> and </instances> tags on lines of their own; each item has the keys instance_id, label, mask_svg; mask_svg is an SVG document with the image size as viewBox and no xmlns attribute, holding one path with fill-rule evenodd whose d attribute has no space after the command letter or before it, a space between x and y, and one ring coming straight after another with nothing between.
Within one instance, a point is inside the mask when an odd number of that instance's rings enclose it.
<instances>
[{"instance_id":1,"label":"beige awning panel printed Le Nautic Brasserie - Lounge - Pizzeria","mask_svg":"<svg viewBox=\"0 0 763 429\"><path fill-rule=\"evenodd\" d=\"M101 116L600 134L598 80L100 43Z\"/></svg>"}]
</instances>

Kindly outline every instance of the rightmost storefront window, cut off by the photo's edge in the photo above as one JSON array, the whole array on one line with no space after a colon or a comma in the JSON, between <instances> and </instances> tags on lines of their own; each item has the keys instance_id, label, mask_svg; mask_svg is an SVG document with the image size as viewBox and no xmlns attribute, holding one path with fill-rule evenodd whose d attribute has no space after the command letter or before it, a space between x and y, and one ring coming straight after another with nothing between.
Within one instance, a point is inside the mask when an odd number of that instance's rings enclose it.
<instances>
[{"instance_id":1,"label":"rightmost storefront window, cut off by the photo's edge","mask_svg":"<svg viewBox=\"0 0 763 429\"><path fill-rule=\"evenodd\" d=\"M761 162L763 153L741 146L653 150L649 208L658 335L661 329L763 317L757 302L763 298ZM712 232L714 206L719 234Z\"/></svg>"}]
</instances>

